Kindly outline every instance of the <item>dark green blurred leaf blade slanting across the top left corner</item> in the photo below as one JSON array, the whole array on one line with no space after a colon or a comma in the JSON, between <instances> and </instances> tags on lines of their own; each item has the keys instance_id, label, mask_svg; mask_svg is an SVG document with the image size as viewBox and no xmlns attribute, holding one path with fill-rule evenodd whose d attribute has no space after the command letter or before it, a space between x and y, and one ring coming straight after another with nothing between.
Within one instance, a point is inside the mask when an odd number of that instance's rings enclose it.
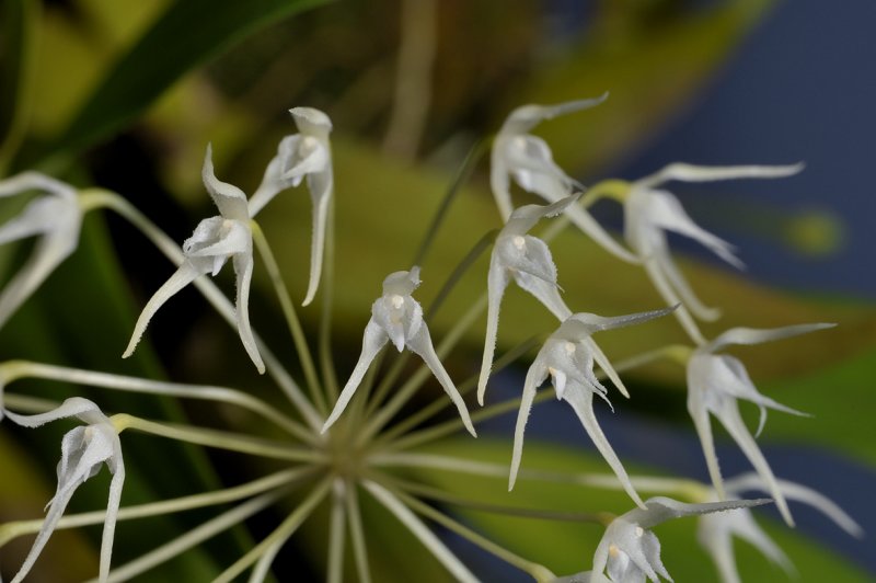
<instances>
[{"instance_id":1,"label":"dark green blurred leaf blade slanting across the top left corner","mask_svg":"<svg viewBox=\"0 0 876 583\"><path fill-rule=\"evenodd\" d=\"M117 132L186 72L260 28L325 1L173 2L112 67L53 152L76 152Z\"/></svg>"}]
</instances>

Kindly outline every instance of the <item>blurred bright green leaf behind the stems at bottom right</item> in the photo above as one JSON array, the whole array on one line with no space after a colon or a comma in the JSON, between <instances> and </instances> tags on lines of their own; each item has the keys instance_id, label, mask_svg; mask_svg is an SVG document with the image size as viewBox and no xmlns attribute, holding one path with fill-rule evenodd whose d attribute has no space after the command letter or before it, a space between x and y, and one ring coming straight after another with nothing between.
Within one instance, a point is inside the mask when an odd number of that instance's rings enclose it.
<instances>
[{"instance_id":1,"label":"blurred bright green leaf behind the stems at bottom right","mask_svg":"<svg viewBox=\"0 0 876 583\"><path fill-rule=\"evenodd\" d=\"M510 445L484 438L453 439L428 448L430 454L462 459L508 464ZM593 456L569 448L548 445L534 439L526 444L523 467L561 472L606 473L606 465ZM627 469L634 469L627 467ZM563 513L593 513L609 511L622 514L633 503L622 492L585 488L568 483L519 481L512 492L507 492L507 479L472 477L465 473L423 470L417 478L465 500L521 508L549 508ZM633 473L636 473L635 471ZM653 472L649 472L653 473ZM647 493L656 495L657 493ZM670 498L675 498L670 495ZM586 522L556 522L537 518L487 514L471 510L449 508L488 538L514 552L550 568L557 575L590 569L592 553L603 528ZM787 553L800 573L798 581L863 582L868 576L849 560L843 559L817 542L792 529L784 528L756 511L759 524ZM695 542L695 519L677 519L659 525L655 534L661 542L661 557L676 581L712 581L716 579L711 559ZM837 536L845 536L838 529ZM785 581L781 569L748 548L736 545L739 551L739 570L744 581Z\"/></svg>"}]
</instances>

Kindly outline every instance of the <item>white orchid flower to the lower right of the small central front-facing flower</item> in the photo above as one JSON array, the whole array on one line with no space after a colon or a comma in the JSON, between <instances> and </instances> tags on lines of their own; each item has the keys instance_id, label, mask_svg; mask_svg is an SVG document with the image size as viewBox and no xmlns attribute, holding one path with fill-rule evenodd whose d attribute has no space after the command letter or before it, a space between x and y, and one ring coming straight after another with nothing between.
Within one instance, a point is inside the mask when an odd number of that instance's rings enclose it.
<instances>
[{"instance_id":1,"label":"white orchid flower to the lower right of the small central front-facing flower","mask_svg":"<svg viewBox=\"0 0 876 583\"><path fill-rule=\"evenodd\" d=\"M618 459L618 455L599 427L593 414L593 395L601 397L611 407L611 402L608 400L608 389L599 382L599 379L593 374L593 362L599 364L599 367L602 368L624 397L630 397L630 393L591 335L601 330L611 330L666 316L670 311L671 309L665 309L616 318L603 318L593 313L575 313L560 324L556 332L551 334L544 342L544 346L539 351L535 361L527 373L523 396L520 400L520 411L517 415L508 490L514 488L517 471L520 468L520 458L523 453L523 432L532 409L532 402L535 399L535 391L550 376L556 391L556 398L563 399L572 405L585 431L593 441L602 457L606 458L606 461L609 462L611 469L614 470L626 493L636 504L639 506L643 504L642 499L630 482L626 470Z\"/></svg>"}]
</instances>

